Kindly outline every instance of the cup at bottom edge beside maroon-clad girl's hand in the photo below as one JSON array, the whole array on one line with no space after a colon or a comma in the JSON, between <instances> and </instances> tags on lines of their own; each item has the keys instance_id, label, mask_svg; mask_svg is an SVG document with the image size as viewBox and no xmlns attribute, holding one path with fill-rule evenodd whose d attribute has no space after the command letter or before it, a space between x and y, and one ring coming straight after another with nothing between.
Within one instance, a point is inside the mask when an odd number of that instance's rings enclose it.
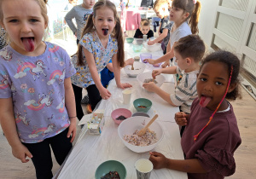
<instances>
[{"instance_id":1,"label":"cup at bottom edge beside maroon-clad girl's hand","mask_svg":"<svg viewBox=\"0 0 256 179\"><path fill-rule=\"evenodd\" d=\"M149 159L139 159L135 163L137 179L149 179L153 164Z\"/></svg>"}]
</instances>

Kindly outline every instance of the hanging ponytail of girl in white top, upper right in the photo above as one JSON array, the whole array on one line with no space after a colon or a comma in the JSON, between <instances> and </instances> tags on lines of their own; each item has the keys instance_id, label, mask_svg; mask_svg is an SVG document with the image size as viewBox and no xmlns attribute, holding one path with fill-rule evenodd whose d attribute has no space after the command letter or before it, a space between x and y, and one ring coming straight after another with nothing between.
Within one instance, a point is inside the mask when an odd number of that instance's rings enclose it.
<instances>
[{"instance_id":1,"label":"hanging ponytail of girl in white top, upper right","mask_svg":"<svg viewBox=\"0 0 256 179\"><path fill-rule=\"evenodd\" d=\"M201 3L197 1L195 3L195 8L193 10L193 13L191 14L191 17L189 19L189 26L191 28L192 34L198 34L199 29L198 29L198 22L199 22L199 14L201 11Z\"/></svg>"}]
</instances>

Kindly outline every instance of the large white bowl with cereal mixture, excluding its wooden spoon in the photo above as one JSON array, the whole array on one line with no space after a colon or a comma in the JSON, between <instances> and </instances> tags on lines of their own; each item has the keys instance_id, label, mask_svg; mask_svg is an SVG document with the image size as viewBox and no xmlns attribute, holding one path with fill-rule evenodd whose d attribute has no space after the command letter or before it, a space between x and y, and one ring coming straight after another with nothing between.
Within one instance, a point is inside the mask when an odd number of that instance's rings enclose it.
<instances>
[{"instance_id":1,"label":"large white bowl with cereal mixture, excluding its wooden spoon","mask_svg":"<svg viewBox=\"0 0 256 179\"><path fill-rule=\"evenodd\" d=\"M149 130L143 136L137 136L137 132L143 129L150 120L151 118L148 117L136 116L127 118L119 124L119 137L131 151L146 153L156 147L163 139L164 131L157 121L149 126Z\"/></svg>"}]
</instances>

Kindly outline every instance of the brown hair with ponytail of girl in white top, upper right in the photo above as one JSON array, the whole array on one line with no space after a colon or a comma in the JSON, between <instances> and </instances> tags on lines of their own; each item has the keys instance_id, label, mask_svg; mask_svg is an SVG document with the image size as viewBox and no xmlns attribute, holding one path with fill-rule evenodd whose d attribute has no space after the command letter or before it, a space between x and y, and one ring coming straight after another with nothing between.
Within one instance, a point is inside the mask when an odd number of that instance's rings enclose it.
<instances>
[{"instance_id":1,"label":"brown hair with ponytail of girl in white top, upper right","mask_svg":"<svg viewBox=\"0 0 256 179\"><path fill-rule=\"evenodd\" d=\"M189 16L186 20L189 20L191 32L193 34L197 34L199 32L197 25L201 11L200 1L196 1L194 4L193 0L173 0L172 6L175 8L183 9L185 12L189 13Z\"/></svg>"}]
</instances>

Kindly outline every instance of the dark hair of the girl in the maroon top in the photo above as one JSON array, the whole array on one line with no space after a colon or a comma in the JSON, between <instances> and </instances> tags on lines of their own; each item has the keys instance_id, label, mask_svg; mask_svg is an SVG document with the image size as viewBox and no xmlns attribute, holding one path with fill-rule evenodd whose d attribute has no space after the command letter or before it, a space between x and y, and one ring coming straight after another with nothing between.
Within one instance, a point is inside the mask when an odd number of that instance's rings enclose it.
<instances>
[{"instance_id":1,"label":"dark hair of the girl in the maroon top","mask_svg":"<svg viewBox=\"0 0 256 179\"><path fill-rule=\"evenodd\" d=\"M225 98L230 101L236 100L237 97L241 98L241 91L239 86L239 84L241 84L240 82L241 79L239 78L239 72L241 71L241 66L240 66L240 61L238 57L229 51L218 50L216 52L213 52L210 55L207 55L205 59L203 59L201 63L201 68L209 61L218 61L220 63L224 63L224 65L227 66L229 75L231 72L231 66L233 66L233 73L232 73L230 84L236 84L236 88L232 90L230 93L227 93Z\"/></svg>"}]
</instances>

